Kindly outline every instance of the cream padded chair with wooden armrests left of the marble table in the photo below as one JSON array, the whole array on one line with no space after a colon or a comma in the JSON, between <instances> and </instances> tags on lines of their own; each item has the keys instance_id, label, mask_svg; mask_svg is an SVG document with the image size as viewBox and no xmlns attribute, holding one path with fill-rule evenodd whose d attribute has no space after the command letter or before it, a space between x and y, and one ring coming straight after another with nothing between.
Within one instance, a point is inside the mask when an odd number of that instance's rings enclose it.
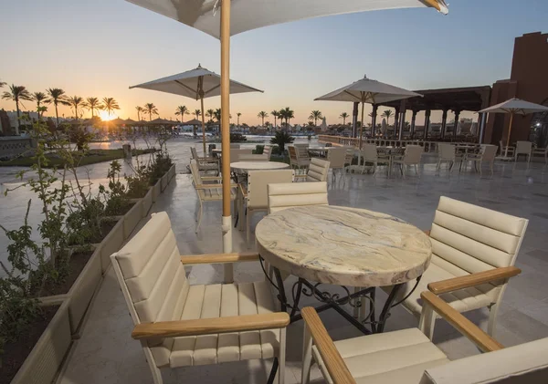
<instances>
[{"instance_id":1,"label":"cream padded chair with wooden armrests left of the marble table","mask_svg":"<svg viewBox=\"0 0 548 384\"><path fill-rule=\"evenodd\" d=\"M188 264L257 255L181 256L167 213L156 213L111 260L154 383L162 383L160 368L276 357L283 381L290 318L274 312L269 283L189 285L184 273Z\"/></svg>"}]
</instances>

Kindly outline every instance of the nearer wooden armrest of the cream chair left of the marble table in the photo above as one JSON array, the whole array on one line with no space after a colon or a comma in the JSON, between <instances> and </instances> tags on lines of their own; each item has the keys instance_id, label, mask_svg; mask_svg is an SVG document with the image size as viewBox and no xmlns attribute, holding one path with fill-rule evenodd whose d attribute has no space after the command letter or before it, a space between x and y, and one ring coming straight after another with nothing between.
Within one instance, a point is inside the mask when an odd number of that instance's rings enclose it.
<instances>
[{"instance_id":1,"label":"nearer wooden armrest of the cream chair left of the marble table","mask_svg":"<svg viewBox=\"0 0 548 384\"><path fill-rule=\"evenodd\" d=\"M243 315L234 317L200 318L196 320L160 321L142 323L133 328L134 339L158 337L184 337L243 332L260 329L283 328L290 324L285 312Z\"/></svg>"}]
</instances>

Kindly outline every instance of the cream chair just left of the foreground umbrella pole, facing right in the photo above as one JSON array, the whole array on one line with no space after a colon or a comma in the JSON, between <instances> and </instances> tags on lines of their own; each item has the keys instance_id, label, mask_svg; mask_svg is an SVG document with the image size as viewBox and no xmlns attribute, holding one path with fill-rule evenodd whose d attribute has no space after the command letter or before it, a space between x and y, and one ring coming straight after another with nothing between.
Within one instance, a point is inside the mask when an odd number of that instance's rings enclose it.
<instances>
[{"instance_id":1,"label":"cream chair just left of the foreground umbrella pole, facing right","mask_svg":"<svg viewBox=\"0 0 548 384\"><path fill-rule=\"evenodd\" d=\"M196 225L195 233L198 233L200 224L202 223L202 211L204 211L205 202L222 202L223 201L223 184L221 184L222 177L220 176L202 176L196 162L190 161L190 172L192 173L192 179L195 187L196 194L198 196L198 202L200 202L200 208L196 214L195 220L198 222ZM237 184L231 184L230 200L235 202L234 211L237 212Z\"/></svg>"}]
</instances>

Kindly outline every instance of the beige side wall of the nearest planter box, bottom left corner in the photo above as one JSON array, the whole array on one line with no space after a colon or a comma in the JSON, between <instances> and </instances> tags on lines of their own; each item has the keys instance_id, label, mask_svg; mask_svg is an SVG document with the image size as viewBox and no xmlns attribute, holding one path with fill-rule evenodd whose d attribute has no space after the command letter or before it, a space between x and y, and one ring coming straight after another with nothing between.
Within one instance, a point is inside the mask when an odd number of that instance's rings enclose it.
<instances>
[{"instance_id":1,"label":"beige side wall of the nearest planter box, bottom left corner","mask_svg":"<svg viewBox=\"0 0 548 384\"><path fill-rule=\"evenodd\" d=\"M50 384L71 344L68 301L63 301L11 384Z\"/></svg>"}]
</instances>

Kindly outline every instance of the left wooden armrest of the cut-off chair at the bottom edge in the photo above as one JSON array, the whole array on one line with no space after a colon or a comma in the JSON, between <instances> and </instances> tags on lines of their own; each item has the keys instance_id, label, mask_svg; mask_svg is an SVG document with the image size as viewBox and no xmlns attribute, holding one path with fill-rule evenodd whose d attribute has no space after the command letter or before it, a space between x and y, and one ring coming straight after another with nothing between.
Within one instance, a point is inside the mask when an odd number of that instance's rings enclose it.
<instances>
[{"instance_id":1,"label":"left wooden armrest of the cut-off chair at the bottom edge","mask_svg":"<svg viewBox=\"0 0 548 384\"><path fill-rule=\"evenodd\" d=\"M306 324L305 327L308 327L311 332L312 340L314 340L314 344L320 352L332 381L337 384L356 384L356 380L353 379L352 373L350 373L341 354L333 344L333 340L327 333L323 323L321 323L316 310L311 306L307 306L302 308L300 314Z\"/></svg>"}]
</instances>

